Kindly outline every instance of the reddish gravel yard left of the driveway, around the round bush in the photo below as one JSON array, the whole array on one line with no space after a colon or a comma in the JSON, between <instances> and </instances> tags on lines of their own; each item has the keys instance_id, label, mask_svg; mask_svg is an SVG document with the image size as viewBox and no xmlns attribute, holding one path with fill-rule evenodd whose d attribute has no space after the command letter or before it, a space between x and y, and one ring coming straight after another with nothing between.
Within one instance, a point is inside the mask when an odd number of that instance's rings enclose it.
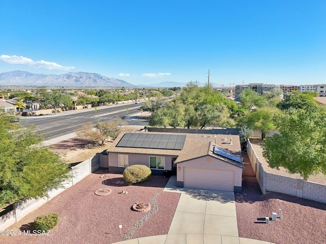
<instances>
[{"instance_id":1,"label":"reddish gravel yard left of the driveway, around the round bush","mask_svg":"<svg viewBox=\"0 0 326 244\"><path fill-rule=\"evenodd\" d=\"M133 234L132 238L167 234L180 194L162 192L169 178L152 175L145 182L128 185L121 174L105 174L103 169L90 174L76 185L51 199L8 230L33 230L37 216L56 212L58 225L50 236L1 236L0 243L113 243L127 233L148 212L132 211L131 206L150 203L157 197L157 212ZM100 177L103 174L107 178ZM105 183L106 186L102 185ZM95 191L110 188L112 193L97 196ZM126 191L128 194L122 194ZM119 225L122 225L120 235Z\"/></svg>"}]
</instances>

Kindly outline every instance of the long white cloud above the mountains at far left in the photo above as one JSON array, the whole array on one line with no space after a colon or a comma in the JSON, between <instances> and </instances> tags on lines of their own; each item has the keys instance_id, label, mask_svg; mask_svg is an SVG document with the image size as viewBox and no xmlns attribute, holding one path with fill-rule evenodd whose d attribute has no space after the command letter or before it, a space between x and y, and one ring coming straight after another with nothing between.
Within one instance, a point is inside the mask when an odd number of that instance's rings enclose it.
<instances>
[{"instance_id":1,"label":"long white cloud above the mountains at far left","mask_svg":"<svg viewBox=\"0 0 326 244\"><path fill-rule=\"evenodd\" d=\"M75 68L58 65L57 63L47 62L44 60L34 61L31 58L16 55L1 55L0 60L11 65L29 65L35 68L43 68L47 70L71 70Z\"/></svg>"}]
</instances>

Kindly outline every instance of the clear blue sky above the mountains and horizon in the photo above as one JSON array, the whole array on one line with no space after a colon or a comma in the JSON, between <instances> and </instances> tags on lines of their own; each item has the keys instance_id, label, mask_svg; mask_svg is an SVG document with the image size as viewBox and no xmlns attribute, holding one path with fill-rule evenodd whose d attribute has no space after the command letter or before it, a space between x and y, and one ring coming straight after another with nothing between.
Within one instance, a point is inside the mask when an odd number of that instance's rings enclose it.
<instances>
[{"instance_id":1,"label":"clear blue sky above the mountains and horizon","mask_svg":"<svg viewBox=\"0 0 326 244\"><path fill-rule=\"evenodd\" d=\"M326 83L326 1L3 1L0 73Z\"/></svg>"}]
</instances>

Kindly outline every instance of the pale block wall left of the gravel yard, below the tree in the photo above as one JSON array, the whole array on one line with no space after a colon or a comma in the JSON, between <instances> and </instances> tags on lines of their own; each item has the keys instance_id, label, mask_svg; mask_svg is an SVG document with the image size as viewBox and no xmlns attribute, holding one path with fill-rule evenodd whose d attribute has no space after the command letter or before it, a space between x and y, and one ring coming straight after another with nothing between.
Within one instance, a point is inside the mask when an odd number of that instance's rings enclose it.
<instances>
[{"instance_id":1,"label":"pale block wall left of the gravel yard, below the tree","mask_svg":"<svg viewBox=\"0 0 326 244\"><path fill-rule=\"evenodd\" d=\"M90 173L94 172L100 167L100 154L95 155L76 166L71 167L71 178L64 182L63 187L59 189L53 189L47 193L47 197L38 199L28 199L22 202L15 202L13 204L13 210L7 212L7 214L0 217L0 229L4 230L14 223L18 222L30 212L42 206L53 197L59 195L67 188L75 185L78 181L85 178Z\"/></svg>"}]
</instances>

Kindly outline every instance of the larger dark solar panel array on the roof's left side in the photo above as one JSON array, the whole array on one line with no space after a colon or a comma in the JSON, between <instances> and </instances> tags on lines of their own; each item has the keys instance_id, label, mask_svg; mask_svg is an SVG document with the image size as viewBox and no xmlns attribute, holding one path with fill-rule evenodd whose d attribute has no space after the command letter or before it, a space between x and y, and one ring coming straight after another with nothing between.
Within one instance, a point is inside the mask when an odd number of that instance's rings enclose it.
<instances>
[{"instance_id":1,"label":"larger dark solar panel array on the roof's left side","mask_svg":"<svg viewBox=\"0 0 326 244\"><path fill-rule=\"evenodd\" d=\"M117 147L181 150L184 140L185 135L126 133L118 142Z\"/></svg>"}]
</instances>

